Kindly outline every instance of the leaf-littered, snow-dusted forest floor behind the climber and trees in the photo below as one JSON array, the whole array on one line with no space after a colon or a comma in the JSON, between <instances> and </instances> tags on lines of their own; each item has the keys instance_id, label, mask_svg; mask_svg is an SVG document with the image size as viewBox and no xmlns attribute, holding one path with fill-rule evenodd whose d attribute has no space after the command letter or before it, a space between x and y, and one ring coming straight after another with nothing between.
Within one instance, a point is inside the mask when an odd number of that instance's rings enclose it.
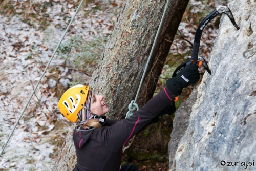
<instances>
[{"instance_id":1,"label":"leaf-littered, snow-dusted forest floor behind the climber and trees","mask_svg":"<svg viewBox=\"0 0 256 171\"><path fill-rule=\"evenodd\" d=\"M22 112L54 48L68 26L80 1L0 0L0 146L3 147ZM20 120L4 154L1 170L52 170L67 136L70 122L57 104L62 93L75 84L89 84L101 53L112 32L123 1L87 1L82 5L50 68L42 79L28 109ZM224 1L190 1L170 48L155 94L165 86L175 68L191 55L201 20ZM204 30L200 54L207 57L217 36L220 17ZM200 68L203 75L204 69ZM193 86L184 89L177 108ZM173 116L161 118L167 149ZM148 131L144 132L147 136ZM150 145L147 144L147 148ZM137 145L137 144L136 144ZM144 144L143 144L144 145ZM131 147L132 148L132 147ZM133 147L141 148L138 144ZM127 153L127 152L126 152ZM157 152L156 152L157 153ZM168 170L168 151L158 156L129 156L140 170Z\"/></svg>"}]
</instances>

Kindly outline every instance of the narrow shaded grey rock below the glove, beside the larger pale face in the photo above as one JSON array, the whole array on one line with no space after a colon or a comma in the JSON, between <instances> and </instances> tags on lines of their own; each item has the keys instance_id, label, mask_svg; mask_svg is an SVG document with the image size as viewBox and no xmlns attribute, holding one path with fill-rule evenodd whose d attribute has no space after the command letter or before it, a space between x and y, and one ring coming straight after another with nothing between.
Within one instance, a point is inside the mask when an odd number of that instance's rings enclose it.
<instances>
[{"instance_id":1,"label":"narrow shaded grey rock below the glove, beside the larger pale face","mask_svg":"<svg viewBox=\"0 0 256 171\"><path fill-rule=\"evenodd\" d=\"M180 142L180 139L185 134L188 123L189 123L189 117L190 113L192 111L192 106L195 104L195 101L197 100L197 88L196 86L194 90L192 91L189 98L183 102L179 109L175 112L175 120L173 122L173 131L172 134L170 134L170 142L169 142L169 168L172 167L175 152L177 151L178 144Z\"/></svg>"}]
</instances>

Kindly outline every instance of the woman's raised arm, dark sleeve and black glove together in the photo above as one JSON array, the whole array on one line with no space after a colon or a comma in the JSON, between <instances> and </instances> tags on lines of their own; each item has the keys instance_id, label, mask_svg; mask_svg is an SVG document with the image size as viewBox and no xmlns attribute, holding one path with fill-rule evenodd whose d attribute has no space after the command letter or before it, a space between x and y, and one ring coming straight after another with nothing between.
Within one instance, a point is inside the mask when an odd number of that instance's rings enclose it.
<instances>
[{"instance_id":1,"label":"woman's raised arm, dark sleeve and black glove together","mask_svg":"<svg viewBox=\"0 0 256 171\"><path fill-rule=\"evenodd\" d=\"M116 122L112 126L99 129L101 138L112 152L120 148L158 113L164 109L175 96L180 95L182 89L199 81L198 63L184 67L175 77L167 80L165 87L156 96L150 99L141 109L129 119Z\"/></svg>"}]
</instances>

